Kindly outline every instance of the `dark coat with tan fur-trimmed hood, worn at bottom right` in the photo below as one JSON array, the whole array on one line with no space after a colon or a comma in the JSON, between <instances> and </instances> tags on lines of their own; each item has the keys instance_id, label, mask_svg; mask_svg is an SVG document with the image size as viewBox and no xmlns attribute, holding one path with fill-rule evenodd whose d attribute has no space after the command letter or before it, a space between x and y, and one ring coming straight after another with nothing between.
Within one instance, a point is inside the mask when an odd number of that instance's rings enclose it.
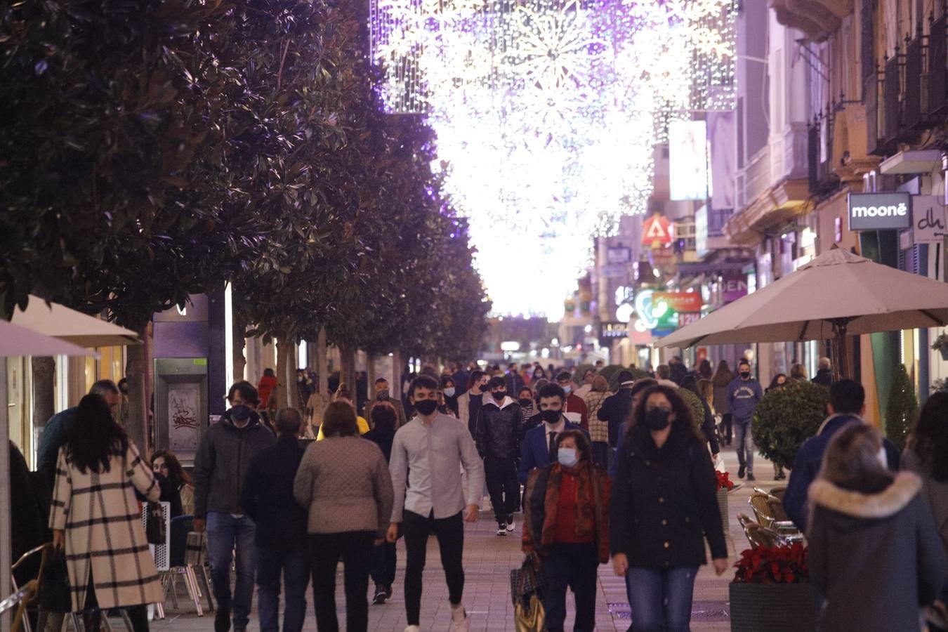
<instances>
[{"instance_id":1,"label":"dark coat with tan fur-trimmed hood, worn at bottom right","mask_svg":"<svg viewBox=\"0 0 948 632\"><path fill-rule=\"evenodd\" d=\"M945 569L921 479L902 472L859 487L810 486L810 581L825 600L819 627L918 630L919 607L939 596Z\"/></svg>"}]
</instances>

